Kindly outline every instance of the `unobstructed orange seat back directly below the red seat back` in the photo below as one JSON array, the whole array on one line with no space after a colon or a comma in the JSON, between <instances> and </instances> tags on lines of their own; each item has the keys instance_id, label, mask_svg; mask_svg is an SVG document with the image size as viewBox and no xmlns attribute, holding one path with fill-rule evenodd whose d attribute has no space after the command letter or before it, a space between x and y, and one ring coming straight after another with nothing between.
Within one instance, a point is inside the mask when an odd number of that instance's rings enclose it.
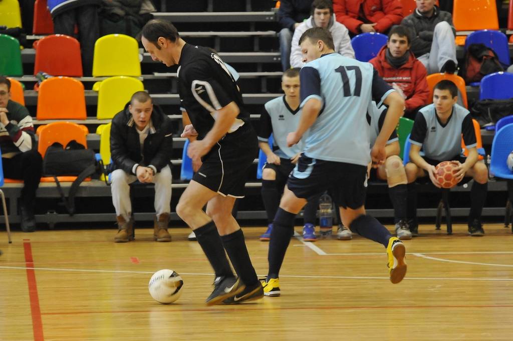
<instances>
[{"instance_id":1,"label":"unobstructed orange seat back directly below the red seat back","mask_svg":"<svg viewBox=\"0 0 513 341\"><path fill-rule=\"evenodd\" d=\"M73 78L49 78L39 88L37 120L85 120L84 85Z\"/></svg>"}]
</instances>

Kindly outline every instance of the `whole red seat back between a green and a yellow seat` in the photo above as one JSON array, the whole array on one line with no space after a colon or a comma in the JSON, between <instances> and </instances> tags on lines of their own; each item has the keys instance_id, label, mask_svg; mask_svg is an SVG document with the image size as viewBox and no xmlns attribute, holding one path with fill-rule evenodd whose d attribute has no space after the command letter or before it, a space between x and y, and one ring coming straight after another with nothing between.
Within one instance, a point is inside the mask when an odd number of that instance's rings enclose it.
<instances>
[{"instance_id":1,"label":"whole red seat back between a green and a yellow seat","mask_svg":"<svg viewBox=\"0 0 513 341\"><path fill-rule=\"evenodd\" d=\"M64 34L45 36L35 47L34 74L40 71L54 76L82 77L80 43Z\"/></svg>"}]
</instances>

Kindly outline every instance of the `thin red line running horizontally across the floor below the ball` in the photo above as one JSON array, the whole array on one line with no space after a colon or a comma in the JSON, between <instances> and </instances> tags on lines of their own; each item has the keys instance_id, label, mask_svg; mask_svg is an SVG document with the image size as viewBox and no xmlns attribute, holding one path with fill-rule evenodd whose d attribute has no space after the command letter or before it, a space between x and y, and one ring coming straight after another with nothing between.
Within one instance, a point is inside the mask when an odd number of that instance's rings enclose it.
<instances>
[{"instance_id":1,"label":"thin red line running horizontally across the floor below the ball","mask_svg":"<svg viewBox=\"0 0 513 341\"><path fill-rule=\"evenodd\" d=\"M257 304L251 304L257 305ZM251 310L352 310L352 309L443 309L443 308L455 308L455 309L469 309L469 308L513 308L513 305L482 305L482 306L354 306L354 307L288 307L288 308L243 308L237 306L235 309L223 309L223 308L195 308L195 309L182 309L180 305L169 305L167 307L176 307L176 310L166 310L170 313L180 312L199 312L199 311L251 311ZM132 314L132 313L150 313L155 310L127 310L127 311L71 311L71 312L56 312L56 313L43 313L43 315L82 315L82 314ZM162 312L166 312L162 311Z\"/></svg>"}]
</instances>

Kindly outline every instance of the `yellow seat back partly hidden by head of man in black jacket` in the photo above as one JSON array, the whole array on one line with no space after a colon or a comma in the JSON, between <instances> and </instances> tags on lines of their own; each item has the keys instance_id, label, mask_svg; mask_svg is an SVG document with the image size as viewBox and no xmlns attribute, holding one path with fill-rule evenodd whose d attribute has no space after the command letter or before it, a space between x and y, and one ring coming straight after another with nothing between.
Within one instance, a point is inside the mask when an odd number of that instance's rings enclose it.
<instances>
[{"instance_id":1,"label":"yellow seat back partly hidden by head of man in black jacket","mask_svg":"<svg viewBox=\"0 0 513 341\"><path fill-rule=\"evenodd\" d=\"M137 91L144 91L143 82L136 78L116 76L100 83L98 89L98 120L111 119L123 110L130 98Z\"/></svg>"}]
</instances>

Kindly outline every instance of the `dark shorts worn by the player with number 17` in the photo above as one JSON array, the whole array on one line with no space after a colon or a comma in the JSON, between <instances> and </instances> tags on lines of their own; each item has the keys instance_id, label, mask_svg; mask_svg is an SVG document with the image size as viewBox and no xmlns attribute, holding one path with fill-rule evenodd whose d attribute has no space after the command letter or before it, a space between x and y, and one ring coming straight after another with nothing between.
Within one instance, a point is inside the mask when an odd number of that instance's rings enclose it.
<instances>
[{"instance_id":1,"label":"dark shorts worn by the player with number 17","mask_svg":"<svg viewBox=\"0 0 513 341\"><path fill-rule=\"evenodd\" d=\"M307 200L329 190L339 206L356 210L365 203L367 167L311 159L301 154L287 186L295 196Z\"/></svg>"}]
</instances>

